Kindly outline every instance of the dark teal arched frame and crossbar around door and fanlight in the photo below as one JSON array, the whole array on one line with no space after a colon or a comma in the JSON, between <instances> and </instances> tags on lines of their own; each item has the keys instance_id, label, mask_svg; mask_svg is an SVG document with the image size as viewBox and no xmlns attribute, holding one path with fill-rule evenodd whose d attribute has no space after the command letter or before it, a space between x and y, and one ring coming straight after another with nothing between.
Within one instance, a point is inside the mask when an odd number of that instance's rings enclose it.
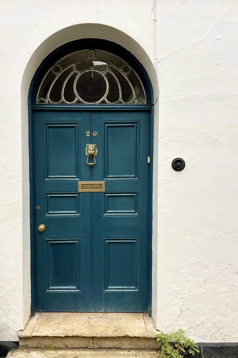
<instances>
[{"instance_id":1,"label":"dark teal arched frame and crossbar around door and fanlight","mask_svg":"<svg viewBox=\"0 0 238 358\"><path fill-rule=\"evenodd\" d=\"M107 50L107 52L111 52L115 55L123 58L127 63L134 68L137 72L139 78L141 79L143 86L145 88L145 93L147 96L146 105L47 105L47 104L35 104L36 103L36 94L39 88L39 85L45 75L45 73L49 70L53 64L58 61L60 58L65 55L74 52L79 49L86 48L96 48L101 50ZM76 110L76 111L139 111L139 110L147 110L150 112L150 173L149 173L149 242L148 242L148 252L149 252L149 275L148 275L148 283L149 283L149 292L148 292L148 312L151 316L152 314L152 219L153 219L153 149L154 149L154 96L153 96L153 87L150 81L150 78L145 71L145 68L142 64L135 58L135 56L130 53L128 50L123 48L122 46L110 42L108 40L100 40L100 39L81 39L69 42L56 50L50 53L44 61L40 64L38 69L36 70L33 79L30 84L29 94L28 94L28 125L29 125L29 179L30 179L30 270L31 270L31 315L33 316L36 312L36 296L35 296L35 247L34 247L34 180L33 180L33 169L34 169L34 161L33 161L33 135L32 135L32 113L34 110Z\"/></svg>"}]
</instances>

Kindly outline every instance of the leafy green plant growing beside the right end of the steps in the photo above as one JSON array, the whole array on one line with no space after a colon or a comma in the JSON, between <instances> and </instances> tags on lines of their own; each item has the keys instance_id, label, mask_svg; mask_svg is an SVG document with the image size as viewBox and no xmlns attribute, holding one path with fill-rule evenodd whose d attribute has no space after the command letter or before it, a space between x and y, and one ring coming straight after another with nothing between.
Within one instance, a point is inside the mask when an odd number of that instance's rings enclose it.
<instances>
[{"instance_id":1,"label":"leafy green plant growing beside the right end of the steps","mask_svg":"<svg viewBox=\"0 0 238 358\"><path fill-rule=\"evenodd\" d=\"M157 341L161 347L163 358L183 358L188 353L195 355L199 353L199 348L193 340L184 335L184 331L179 329L177 332L157 334ZM171 344L174 342L174 344Z\"/></svg>"}]
</instances>

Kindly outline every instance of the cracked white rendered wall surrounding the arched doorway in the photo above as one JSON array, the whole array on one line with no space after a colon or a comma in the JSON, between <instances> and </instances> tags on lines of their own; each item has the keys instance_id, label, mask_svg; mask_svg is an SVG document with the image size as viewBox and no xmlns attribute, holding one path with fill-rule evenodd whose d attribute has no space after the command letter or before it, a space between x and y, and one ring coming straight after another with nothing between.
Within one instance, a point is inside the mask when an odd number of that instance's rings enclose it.
<instances>
[{"instance_id":1,"label":"cracked white rendered wall surrounding the arched doorway","mask_svg":"<svg viewBox=\"0 0 238 358\"><path fill-rule=\"evenodd\" d=\"M101 38L132 52L154 88L156 328L237 342L237 0L8 0L0 15L0 340L30 315L31 79L60 45Z\"/></svg>"}]
</instances>

